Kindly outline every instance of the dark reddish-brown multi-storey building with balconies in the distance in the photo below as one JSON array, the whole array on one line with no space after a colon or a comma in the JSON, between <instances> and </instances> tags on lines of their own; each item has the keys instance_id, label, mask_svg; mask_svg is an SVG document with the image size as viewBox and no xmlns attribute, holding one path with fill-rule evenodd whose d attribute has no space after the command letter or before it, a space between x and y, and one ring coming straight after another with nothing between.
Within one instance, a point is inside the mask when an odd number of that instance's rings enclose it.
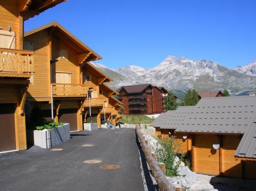
<instances>
[{"instance_id":1,"label":"dark reddish-brown multi-storey building with balconies in the distance","mask_svg":"<svg viewBox=\"0 0 256 191\"><path fill-rule=\"evenodd\" d=\"M124 115L151 115L162 113L168 91L151 84L122 86L118 90L119 100L124 104Z\"/></svg>"}]
</instances>

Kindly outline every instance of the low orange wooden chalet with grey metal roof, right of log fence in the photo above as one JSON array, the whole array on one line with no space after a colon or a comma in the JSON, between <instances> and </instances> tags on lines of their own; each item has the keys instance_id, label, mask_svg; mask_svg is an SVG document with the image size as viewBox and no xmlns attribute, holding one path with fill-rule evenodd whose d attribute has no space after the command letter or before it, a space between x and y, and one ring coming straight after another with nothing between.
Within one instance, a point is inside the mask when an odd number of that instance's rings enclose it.
<instances>
[{"instance_id":1,"label":"low orange wooden chalet with grey metal roof, right of log fence","mask_svg":"<svg viewBox=\"0 0 256 191\"><path fill-rule=\"evenodd\" d=\"M156 134L176 136L193 171L256 180L256 96L202 98L167 113L152 123Z\"/></svg>"}]
</instances>

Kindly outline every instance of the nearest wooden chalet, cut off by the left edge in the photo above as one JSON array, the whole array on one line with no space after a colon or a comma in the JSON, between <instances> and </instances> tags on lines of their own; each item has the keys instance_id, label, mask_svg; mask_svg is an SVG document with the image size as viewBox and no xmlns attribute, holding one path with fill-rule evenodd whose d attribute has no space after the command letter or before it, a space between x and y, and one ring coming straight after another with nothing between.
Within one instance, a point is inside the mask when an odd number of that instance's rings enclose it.
<instances>
[{"instance_id":1,"label":"nearest wooden chalet, cut off by the left edge","mask_svg":"<svg viewBox=\"0 0 256 191\"><path fill-rule=\"evenodd\" d=\"M63 1L0 1L0 152L27 149L24 103L35 52L23 49L24 21Z\"/></svg>"}]
</instances>

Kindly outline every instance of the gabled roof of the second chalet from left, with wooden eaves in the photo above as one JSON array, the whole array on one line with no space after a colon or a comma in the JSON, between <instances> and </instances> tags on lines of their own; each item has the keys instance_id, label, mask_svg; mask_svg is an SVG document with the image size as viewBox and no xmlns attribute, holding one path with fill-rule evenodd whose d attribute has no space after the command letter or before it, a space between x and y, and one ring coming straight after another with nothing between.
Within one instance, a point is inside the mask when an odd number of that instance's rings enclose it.
<instances>
[{"instance_id":1,"label":"gabled roof of the second chalet from left, with wooden eaves","mask_svg":"<svg viewBox=\"0 0 256 191\"><path fill-rule=\"evenodd\" d=\"M56 33L56 35L58 35L58 37L64 36L65 40L71 41L72 44L74 44L73 46L76 46L77 51L79 51L81 54L89 54L88 56L90 56L92 58L90 61L102 59L102 57L100 55L98 55L96 52L94 52L91 48L89 48L87 45L85 45L85 43L83 43L78 38L76 38L74 35L72 35L66 28L61 26L56 21L45 24L38 28L34 28L32 30L29 30L24 33L24 37L27 37L29 35L32 35L33 33L37 33L39 31L47 29L47 28L53 28L54 32Z\"/></svg>"}]
</instances>

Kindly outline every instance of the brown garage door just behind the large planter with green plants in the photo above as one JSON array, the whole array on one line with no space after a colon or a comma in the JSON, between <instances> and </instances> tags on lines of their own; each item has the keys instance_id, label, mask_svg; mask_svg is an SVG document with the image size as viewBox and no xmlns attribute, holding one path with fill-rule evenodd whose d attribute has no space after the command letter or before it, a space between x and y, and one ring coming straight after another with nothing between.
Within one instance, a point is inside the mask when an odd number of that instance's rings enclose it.
<instances>
[{"instance_id":1,"label":"brown garage door just behind the large planter with green plants","mask_svg":"<svg viewBox=\"0 0 256 191\"><path fill-rule=\"evenodd\" d=\"M60 109L59 111L59 122L69 123L70 131L77 129L77 109Z\"/></svg>"}]
</instances>

